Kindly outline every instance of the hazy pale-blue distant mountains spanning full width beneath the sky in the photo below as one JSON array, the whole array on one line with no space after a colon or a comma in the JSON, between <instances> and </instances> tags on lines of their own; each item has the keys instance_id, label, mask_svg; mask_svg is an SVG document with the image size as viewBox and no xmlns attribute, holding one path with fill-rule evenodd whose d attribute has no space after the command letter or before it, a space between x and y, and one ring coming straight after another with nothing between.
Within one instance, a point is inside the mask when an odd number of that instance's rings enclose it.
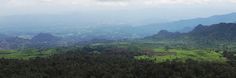
<instances>
[{"instance_id":1,"label":"hazy pale-blue distant mountains spanning full width beneath the sky","mask_svg":"<svg viewBox=\"0 0 236 78\"><path fill-rule=\"evenodd\" d=\"M236 13L216 15L207 18L195 18L168 23L154 23L140 26L128 25L121 22L102 21L103 17L85 17L82 15L22 15L0 18L0 32L26 32L26 33L63 33L80 36L81 40L92 39L126 39L141 38L156 34L160 30L171 32L189 32L196 25L210 25L216 23L232 23L236 21ZM109 17L110 18L110 17ZM109 20L108 18L104 18ZM101 20L101 21L95 21ZM122 19L120 19L122 20ZM127 19L126 19L127 20ZM90 21L90 22L86 22ZM152 20L154 21L154 20ZM106 24L102 24L102 23ZM156 20L158 22L158 20ZM109 23L109 24L108 24ZM62 34L62 36L64 36ZM83 37L82 37L83 36Z\"/></svg>"}]
</instances>

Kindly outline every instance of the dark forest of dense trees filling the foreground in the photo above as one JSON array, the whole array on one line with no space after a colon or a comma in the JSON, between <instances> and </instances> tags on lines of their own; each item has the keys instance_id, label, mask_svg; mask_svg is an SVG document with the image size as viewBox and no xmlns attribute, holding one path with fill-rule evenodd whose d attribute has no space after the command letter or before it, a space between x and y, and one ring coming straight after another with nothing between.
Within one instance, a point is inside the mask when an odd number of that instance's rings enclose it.
<instances>
[{"instance_id":1,"label":"dark forest of dense trees filling the foreground","mask_svg":"<svg viewBox=\"0 0 236 78\"><path fill-rule=\"evenodd\" d=\"M0 78L236 78L235 65L230 63L154 63L133 58L141 52L118 47L58 51L48 58L0 59Z\"/></svg>"}]
</instances>

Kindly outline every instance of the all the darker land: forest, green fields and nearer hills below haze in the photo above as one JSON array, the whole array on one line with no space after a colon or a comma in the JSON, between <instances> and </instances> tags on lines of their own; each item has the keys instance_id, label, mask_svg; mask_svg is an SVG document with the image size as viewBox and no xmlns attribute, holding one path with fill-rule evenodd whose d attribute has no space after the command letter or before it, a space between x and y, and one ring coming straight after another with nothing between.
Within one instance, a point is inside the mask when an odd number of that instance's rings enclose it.
<instances>
[{"instance_id":1,"label":"all the darker land: forest, green fields and nearer hills below haze","mask_svg":"<svg viewBox=\"0 0 236 78\"><path fill-rule=\"evenodd\" d=\"M14 44L0 50L0 78L236 78L235 25L68 46L45 33L6 38Z\"/></svg>"}]
</instances>

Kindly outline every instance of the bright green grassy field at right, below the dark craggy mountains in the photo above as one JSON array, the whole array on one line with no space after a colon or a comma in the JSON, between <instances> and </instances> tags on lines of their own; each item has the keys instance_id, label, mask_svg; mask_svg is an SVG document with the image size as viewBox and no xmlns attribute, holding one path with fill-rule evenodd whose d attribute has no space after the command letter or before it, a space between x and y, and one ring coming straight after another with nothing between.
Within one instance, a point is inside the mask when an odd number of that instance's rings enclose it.
<instances>
[{"instance_id":1,"label":"bright green grassy field at right, below the dark craggy mountains","mask_svg":"<svg viewBox=\"0 0 236 78\"><path fill-rule=\"evenodd\" d=\"M162 48L154 48L155 52L165 52ZM136 56L136 59L139 60L154 60L157 63L165 62L165 61L182 61L185 62L188 59L194 61L209 61L209 62L225 62L225 58L220 54L213 51L207 50L179 50L179 49L171 49L169 52L175 52L176 55L165 55L165 56Z\"/></svg>"}]
</instances>

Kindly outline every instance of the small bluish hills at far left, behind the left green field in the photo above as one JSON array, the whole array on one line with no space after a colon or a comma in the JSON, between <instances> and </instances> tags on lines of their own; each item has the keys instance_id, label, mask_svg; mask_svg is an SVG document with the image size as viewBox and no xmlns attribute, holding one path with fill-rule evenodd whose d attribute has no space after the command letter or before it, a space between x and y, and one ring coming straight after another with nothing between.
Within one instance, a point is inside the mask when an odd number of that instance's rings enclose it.
<instances>
[{"instance_id":1,"label":"small bluish hills at far left, behind the left green field","mask_svg":"<svg viewBox=\"0 0 236 78\"><path fill-rule=\"evenodd\" d=\"M7 36L0 39L0 49L19 49L19 48L49 48L59 45L61 38L48 33L40 33L32 39Z\"/></svg>"}]
</instances>

